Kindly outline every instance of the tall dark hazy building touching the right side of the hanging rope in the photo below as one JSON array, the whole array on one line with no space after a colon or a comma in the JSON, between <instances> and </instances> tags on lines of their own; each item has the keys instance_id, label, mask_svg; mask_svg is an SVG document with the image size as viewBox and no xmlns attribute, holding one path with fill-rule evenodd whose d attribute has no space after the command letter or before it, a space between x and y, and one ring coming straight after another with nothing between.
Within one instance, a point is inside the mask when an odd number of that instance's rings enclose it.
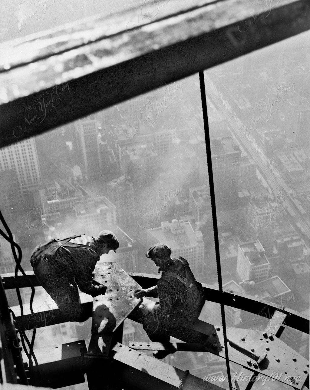
<instances>
[{"instance_id":1,"label":"tall dark hazy building touching the right side of the hanging rope","mask_svg":"<svg viewBox=\"0 0 310 390\"><path fill-rule=\"evenodd\" d=\"M216 207L237 204L241 151L231 137L211 139L213 182Z\"/></svg>"}]
</instances>

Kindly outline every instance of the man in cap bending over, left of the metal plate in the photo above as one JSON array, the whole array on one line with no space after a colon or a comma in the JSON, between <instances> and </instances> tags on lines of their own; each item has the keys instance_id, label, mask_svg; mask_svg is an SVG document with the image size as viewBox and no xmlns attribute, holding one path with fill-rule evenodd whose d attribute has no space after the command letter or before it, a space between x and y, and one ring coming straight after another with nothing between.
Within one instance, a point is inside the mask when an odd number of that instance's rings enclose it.
<instances>
[{"instance_id":1,"label":"man in cap bending over, left of the metal plate","mask_svg":"<svg viewBox=\"0 0 310 390\"><path fill-rule=\"evenodd\" d=\"M78 287L92 297L105 294L106 286L95 282L92 272L101 255L118 247L110 230L103 230L98 237L83 234L35 247L30 258L34 273L67 321L83 322L89 317L81 308Z\"/></svg>"}]
</instances>

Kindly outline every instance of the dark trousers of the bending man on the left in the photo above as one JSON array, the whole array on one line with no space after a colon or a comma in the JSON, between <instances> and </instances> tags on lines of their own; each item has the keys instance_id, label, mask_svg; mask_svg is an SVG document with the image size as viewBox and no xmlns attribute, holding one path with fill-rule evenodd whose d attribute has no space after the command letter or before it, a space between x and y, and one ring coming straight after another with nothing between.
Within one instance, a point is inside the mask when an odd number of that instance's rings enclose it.
<instances>
[{"instance_id":1,"label":"dark trousers of the bending man on the left","mask_svg":"<svg viewBox=\"0 0 310 390\"><path fill-rule=\"evenodd\" d=\"M87 320L88 316L83 313L80 305L78 286L65 267L50 264L41 257L34 265L34 273L61 313L67 316L67 321Z\"/></svg>"}]
</instances>

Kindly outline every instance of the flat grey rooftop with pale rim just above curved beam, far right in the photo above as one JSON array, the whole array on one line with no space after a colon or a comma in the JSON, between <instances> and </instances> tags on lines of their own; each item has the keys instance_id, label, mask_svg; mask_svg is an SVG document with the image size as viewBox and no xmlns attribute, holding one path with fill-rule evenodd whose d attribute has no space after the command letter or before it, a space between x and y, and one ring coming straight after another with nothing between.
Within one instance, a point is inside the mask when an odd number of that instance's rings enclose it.
<instances>
[{"instance_id":1,"label":"flat grey rooftop with pale rim just above curved beam, far right","mask_svg":"<svg viewBox=\"0 0 310 390\"><path fill-rule=\"evenodd\" d=\"M278 277L278 275L272 278L263 280L262 282L255 283L253 289L249 292L251 295L260 299L272 299L285 293L289 293L291 290Z\"/></svg>"}]
</instances>

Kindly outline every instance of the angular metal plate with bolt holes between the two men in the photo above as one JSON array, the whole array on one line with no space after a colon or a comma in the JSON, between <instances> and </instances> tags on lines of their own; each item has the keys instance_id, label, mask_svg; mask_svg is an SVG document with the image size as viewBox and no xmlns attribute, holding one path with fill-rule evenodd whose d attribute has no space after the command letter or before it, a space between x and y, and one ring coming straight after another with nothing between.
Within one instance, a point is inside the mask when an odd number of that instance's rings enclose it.
<instances>
[{"instance_id":1,"label":"angular metal plate with bolt holes between the two men","mask_svg":"<svg viewBox=\"0 0 310 390\"><path fill-rule=\"evenodd\" d=\"M139 305L133 293L141 287L115 262L98 262L94 279L107 290L94 298L92 334L110 333Z\"/></svg>"}]
</instances>

